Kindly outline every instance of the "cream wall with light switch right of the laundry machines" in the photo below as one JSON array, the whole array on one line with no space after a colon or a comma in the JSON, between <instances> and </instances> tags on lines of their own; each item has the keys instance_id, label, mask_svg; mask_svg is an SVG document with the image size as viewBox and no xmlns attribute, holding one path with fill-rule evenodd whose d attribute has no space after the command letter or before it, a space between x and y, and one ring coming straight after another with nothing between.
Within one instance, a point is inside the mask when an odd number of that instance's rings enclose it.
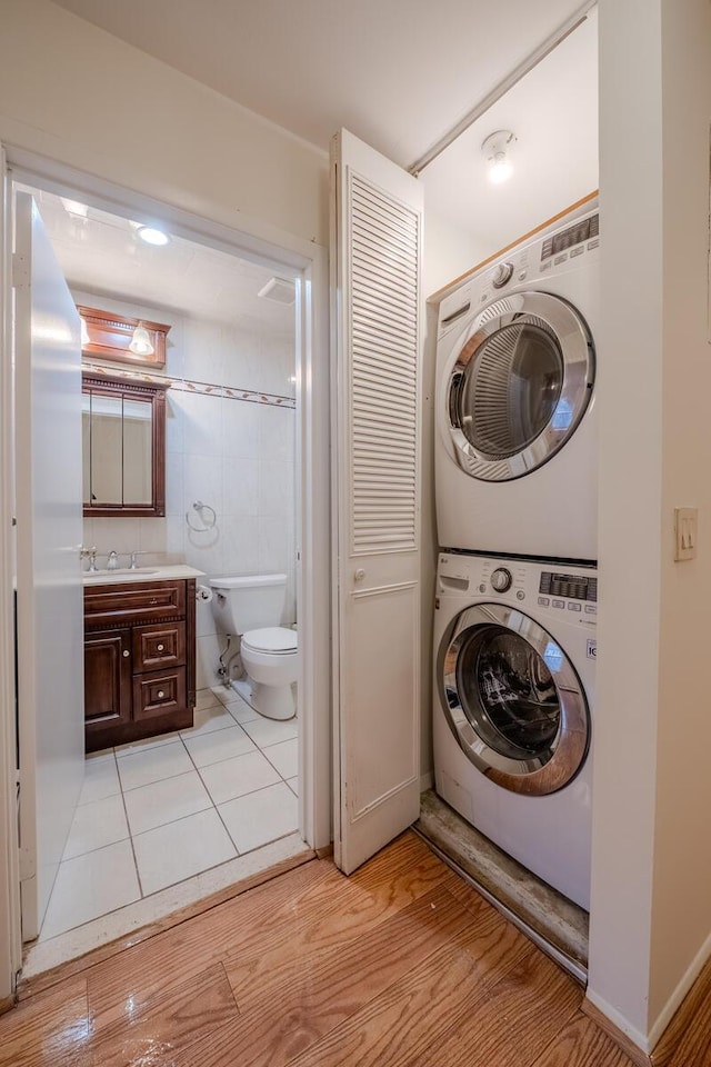
<instances>
[{"instance_id":1,"label":"cream wall with light switch right of the laundry machines","mask_svg":"<svg viewBox=\"0 0 711 1067\"><path fill-rule=\"evenodd\" d=\"M588 996L653 1046L711 930L711 10L601 0L600 627ZM673 562L673 508L699 558Z\"/></svg>"}]
</instances>

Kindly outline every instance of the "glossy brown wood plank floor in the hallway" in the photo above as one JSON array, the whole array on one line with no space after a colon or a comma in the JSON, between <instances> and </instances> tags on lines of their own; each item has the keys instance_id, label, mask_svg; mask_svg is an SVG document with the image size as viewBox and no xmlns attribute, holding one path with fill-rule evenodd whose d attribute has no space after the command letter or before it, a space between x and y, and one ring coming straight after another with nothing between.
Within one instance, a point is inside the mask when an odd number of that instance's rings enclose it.
<instances>
[{"instance_id":1,"label":"glossy brown wood plank floor in the hallway","mask_svg":"<svg viewBox=\"0 0 711 1067\"><path fill-rule=\"evenodd\" d=\"M632 1067L582 996L405 834L349 879L314 859L30 996L0 1067Z\"/></svg>"}]
</instances>

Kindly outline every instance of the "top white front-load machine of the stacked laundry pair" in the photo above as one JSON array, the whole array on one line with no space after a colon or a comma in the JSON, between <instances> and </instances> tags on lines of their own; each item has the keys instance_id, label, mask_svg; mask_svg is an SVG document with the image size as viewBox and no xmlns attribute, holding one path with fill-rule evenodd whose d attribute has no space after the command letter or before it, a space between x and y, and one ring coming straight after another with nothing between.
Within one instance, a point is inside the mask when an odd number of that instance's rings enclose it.
<instances>
[{"instance_id":1,"label":"top white front-load machine of the stacked laundry pair","mask_svg":"<svg viewBox=\"0 0 711 1067\"><path fill-rule=\"evenodd\" d=\"M597 559L597 208L440 305L441 548Z\"/></svg>"}]
</instances>

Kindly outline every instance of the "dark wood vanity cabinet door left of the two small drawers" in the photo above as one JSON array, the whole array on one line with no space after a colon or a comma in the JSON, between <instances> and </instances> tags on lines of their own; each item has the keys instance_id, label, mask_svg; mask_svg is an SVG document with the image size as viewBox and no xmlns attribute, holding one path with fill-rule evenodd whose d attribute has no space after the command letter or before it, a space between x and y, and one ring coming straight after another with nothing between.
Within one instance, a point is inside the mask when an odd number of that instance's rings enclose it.
<instances>
[{"instance_id":1,"label":"dark wood vanity cabinet door left of the two small drawers","mask_svg":"<svg viewBox=\"0 0 711 1067\"><path fill-rule=\"evenodd\" d=\"M84 720L88 748L91 739L106 727L131 720L131 631L128 628L84 637Z\"/></svg>"}]
</instances>

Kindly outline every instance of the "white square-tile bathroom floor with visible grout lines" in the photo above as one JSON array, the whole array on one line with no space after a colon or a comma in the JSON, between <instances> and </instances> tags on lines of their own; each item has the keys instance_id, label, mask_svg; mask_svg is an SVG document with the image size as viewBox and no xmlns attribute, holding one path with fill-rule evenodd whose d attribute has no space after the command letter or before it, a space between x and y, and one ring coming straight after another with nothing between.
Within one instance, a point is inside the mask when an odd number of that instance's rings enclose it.
<instances>
[{"instance_id":1,"label":"white square-tile bathroom floor with visible grout lines","mask_svg":"<svg viewBox=\"0 0 711 1067\"><path fill-rule=\"evenodd\" d=\"M202 689L192 729L89 756L40 940L296 830L297 736Z\"/></svg>"}]
</instances>

